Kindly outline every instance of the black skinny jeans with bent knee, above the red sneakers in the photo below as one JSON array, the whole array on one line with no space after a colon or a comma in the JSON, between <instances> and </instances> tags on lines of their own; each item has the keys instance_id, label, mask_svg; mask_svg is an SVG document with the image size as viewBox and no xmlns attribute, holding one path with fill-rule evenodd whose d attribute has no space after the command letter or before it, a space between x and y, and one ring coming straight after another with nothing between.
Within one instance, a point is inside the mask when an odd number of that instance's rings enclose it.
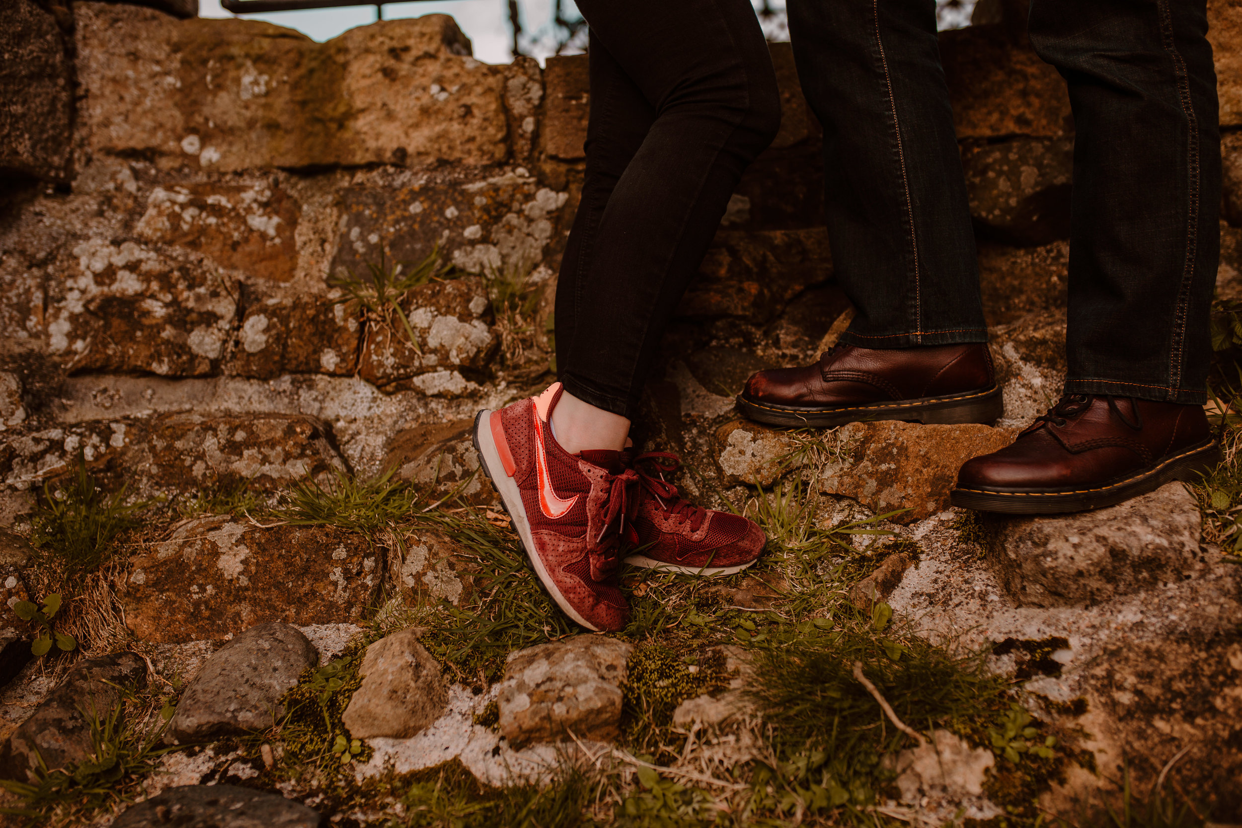
<instances>
[{"instance_id":1,"label":"black skinny jeans with bent knee, above the red sneakers","mask_svg":"<svg viewBox=\"0 0 1242 828\"><path fill-rule=\"evenodd\" d=\"M656 349L746 165L780 128L749 0L579 0L586 176L556 286L556 367L632 418Z\"/></svg>"}]
</instances>

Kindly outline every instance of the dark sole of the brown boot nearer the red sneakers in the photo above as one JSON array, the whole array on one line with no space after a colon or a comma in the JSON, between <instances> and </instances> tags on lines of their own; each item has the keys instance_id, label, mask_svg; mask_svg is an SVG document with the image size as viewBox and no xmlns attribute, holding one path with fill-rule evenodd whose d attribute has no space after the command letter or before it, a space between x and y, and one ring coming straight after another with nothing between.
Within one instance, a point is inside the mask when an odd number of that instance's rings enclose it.
<instances>
[{"instance_id":1,"label":"dark sole of the brown boot nearer the red sneakers","mask_svg":"<svg viewBox=\"0 0 1242 828\"><path fill-rule=\"evenodd\" d=\"M940 397L919 397L900 402L877 402L866 406L809 408L776 406L738 396L738 408L755 422L770 426L843 426L871 420L905 420L924 425L953 426L961 423L991 425L1005 413L1005 400L999 386Z\"/></svg>"}]
</instances>

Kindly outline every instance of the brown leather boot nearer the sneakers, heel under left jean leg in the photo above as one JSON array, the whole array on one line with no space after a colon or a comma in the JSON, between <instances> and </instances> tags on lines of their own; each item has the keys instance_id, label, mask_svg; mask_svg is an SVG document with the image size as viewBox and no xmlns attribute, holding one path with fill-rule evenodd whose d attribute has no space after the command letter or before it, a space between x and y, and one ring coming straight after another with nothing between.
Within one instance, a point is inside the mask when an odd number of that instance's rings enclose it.
<instances>
[{"instance_id":1,"label":"brown leather boot nearer the sneakers, heel under left jean leg","mask_svg":"<svg viewBox=\"0 0 1242 828\"><path fill-rule=\"evenodd\" d=\"M815 365L754 374L738 408L774 426L859 420L991 423L1005 413L984 343L894 349L838 344Z\"/></svg>"}]
</instances>

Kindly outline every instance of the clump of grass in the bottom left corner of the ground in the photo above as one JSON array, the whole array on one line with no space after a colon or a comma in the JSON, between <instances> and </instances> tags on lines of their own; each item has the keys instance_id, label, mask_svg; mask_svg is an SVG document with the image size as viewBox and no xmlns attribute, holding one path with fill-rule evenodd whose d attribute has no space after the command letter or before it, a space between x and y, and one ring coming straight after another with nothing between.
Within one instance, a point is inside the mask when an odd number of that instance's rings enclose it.
<instances>
[{"instance_id":1,"label":"clump of grass in the bottom left corner of the ground","mask_svg":"<svg viewBox=\"0 0 1242 828\"><path fill-rule=\"evenodd\" d=\"M47 767L42 756L34 781L0 780L21 807L0 808L24 826L84 824L99 811L128 802L155 770L155 760L178 747L160 747L173 718L170 700L122 689L104 711L83 709L91 726L91 755L71 767Z\"/></svg>"}]
</instances>

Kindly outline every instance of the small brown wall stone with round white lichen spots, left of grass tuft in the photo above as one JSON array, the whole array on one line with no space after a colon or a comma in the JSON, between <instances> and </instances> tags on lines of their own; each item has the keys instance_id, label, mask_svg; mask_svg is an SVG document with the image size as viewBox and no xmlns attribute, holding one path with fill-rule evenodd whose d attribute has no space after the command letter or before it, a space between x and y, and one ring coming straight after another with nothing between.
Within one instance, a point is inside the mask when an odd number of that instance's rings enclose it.
<instances>
[{"instance_id":1,"label":"small brown wall stone with round white lichen spots, left of grass tuft","mask_svg":"<svg viewBox=\"0 0 1242 828\"><path fill-rule=\"evenodd\" d=\"M344 302L272 297L246 308L226 371L265 380L282 374L348 376L358 364L360 328Z\"/></svg>"}]
</instances>

